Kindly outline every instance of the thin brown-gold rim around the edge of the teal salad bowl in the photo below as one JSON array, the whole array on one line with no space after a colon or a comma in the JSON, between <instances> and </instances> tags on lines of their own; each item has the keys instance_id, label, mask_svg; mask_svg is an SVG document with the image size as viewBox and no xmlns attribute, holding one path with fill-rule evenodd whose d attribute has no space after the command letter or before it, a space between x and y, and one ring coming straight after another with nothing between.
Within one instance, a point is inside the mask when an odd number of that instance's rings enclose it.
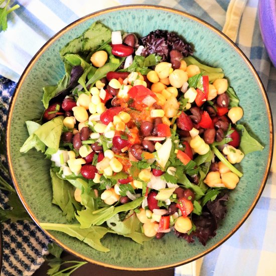
<instances>
[{"instance_id":1,"label":"thin brown-gold rim around the edge of the teal salad bowl","mask_svg":"<svg viewBox=\"0 0 276 276\"><path fill-rule=\"evenodd\" d=\"M41 228L40 226L40 222L38 221L38 219L36 218L36 216L33 214L33 212L30 209L30 206L28 205L28 203L25 201L20 187L18 186L15 174L14 174L14 168L13 168L13 164L11 161L11 153L10 153L10 131L11 131L11 121L12 121L12 113L13 113L13 109L14 109L14 105L17 99L17 95L20 92L20 88L22 86L22 83L24 82L25 77L27 76L27 74L29 73L31 67L33 66L33 64L36 62L36 60L41 56L41 54L43 54L43 52L45 50L47 50L48 45L50 45L52 42L54 42L56 39L58 39L60 36L62 36L64 33L66 33L67 30L73 28L75 25L78 25L88 19L94 18L98 15L102 15L102 14L106 14L109 13L111 11L116 11L116 10L124 10L124 9L141 9L141 8L145 8L145 9L157 9L157 10L162 10L162 11L167 11L167 12L171 12L174 14L178 14L178 15L182 15L186 18L192 19L202 25L204 25L206 28L210 29L211 31L215 32L216 34L218 34L221 38L223 38L228 44L230 44L230 46L234 47L235 50L237 51L237 53L240 55L240 57L245 61L245 63L247 64L247 66L249 67L250 71L252 72L252 74L254 75L255 79L257 80L257 83L259 85L259 88L261 90L262 96L264 98L265 101L265 105L266 105L266 111L267 111L267 116L268 116L268 120L269 120L269 137L270 137L270 143L269 143L269 155L268 155L268 162L267 162L267 166L266 166L266 170L265 170L265 175L264 178L262 180L260 189L258 191L257 196L255 197L254 201L252 202L250 208L248 209L247 213L243 216L243 218L239 221L239 223L234 227L234 229L232 231L230 231L224 238L222 238L220 241L218 241L215 245L213 245L211 248L202 251L201 253L199 253L198 255L189 258L189 259L185 259L181 262L177 262L177 263L172 263L169 265L160 265L157 267L139 267L139 268L135 268L135 267L123 267L123 266L117 266L117 265L112 265L112 264L107 264L107 263L103 263L100 261L96 261L93 260L92 258L89 257L85 257L82 254L79 254L78 252L75 252L73 249L69 248L68 246L66 246L65 244L63 244L62 242L60 242L57 238L55 238L51 233L49 233L47 230L44 230ZM271 166L271 162L272 162L272 153L273 153L273 141L274 141L274 133L273 133L273 121L272 121L272 115L271 115L271 108L269 105L269 101L267 98L267 94L265 92L265 89L263 87L263 84L260 80L260 77L258 76L256 70L254 69L252 63L249 61L249 59L245 56L245 54L238 48L238 46L232 41L230 40L225 34L223 34L220 30L218 30L217 28L215 28L214 26L212 26L211 24L207 23L206 21L191 15L189 13L177 10L177 9L173 9L173 8L167 8L164 6L157 6L157 5L147 5L147 4L137 4L137 5L122 5L122 6L117 6L117 7L111 7L108 9L104 9L104 10L100 10L94 13L91 13L89 15L86 15L74 22L72 22L71 24L67 25L65 28L63 28L62 30L60 30L58 33L56 33L52 38L50 38L40 49L39 51L35 54L35 56L31 59L31 61L29 62L29 64L27 65L27 67L25 68L23 74L21 75L17 86L15 88L15 92L12 96L11 99L11 103L10 103L10 107L9 107L9 113L8 113L8 119L7 119L7 137L6 137L6 144L7 144L7 157L8 157L8 164L9 164L9 169L10 169L10 173L12 176L12 180L13 183L15 185L16 191L20 197L20 200L22 201L24 207L26 208L27 212L29 213L29 215L31 216L31 218L34 220L34 222L41 228L41 230L48 236L50 237L52 240L54 240L59 246L61 246L64 250L68 251L69 253L82 258L86 261L89 261L91 263L94 264L98 264L101 266L105 266L105 267L109 267L109 268L114 268L114 269L122 269L122 270L131 270L131 271L149 271L149 270L157 270L157 269L165 269L165 268L172 268L172 267L176 267L179 265L183 265L186 264L188 262L194 261L208 253L210 253L211 251L213 251L214 249L216 249L218 246L220 246L222 243L224 243L229 237L231 237L238 229L239 227L244 223L244 221L248 218L248 216L250 215L250 213L252 212L252 210L254 209L255 205L257 204L261 193L264 189L266 180L268 178L268 174L269 174L269 170L270 170L270 166Z\"/></svg>"}]
</instances>

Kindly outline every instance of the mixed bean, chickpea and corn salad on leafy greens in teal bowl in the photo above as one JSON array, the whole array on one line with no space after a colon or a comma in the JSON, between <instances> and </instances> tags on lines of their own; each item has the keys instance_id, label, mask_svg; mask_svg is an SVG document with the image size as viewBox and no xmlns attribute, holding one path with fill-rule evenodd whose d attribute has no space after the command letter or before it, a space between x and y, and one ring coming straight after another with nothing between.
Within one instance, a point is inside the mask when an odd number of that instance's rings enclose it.
<instances>
[{"instance_id":1,"label":"mixed bean, chickpea and corn salad on leafy greens in teal bowl","mask_svg":"<svg viewBox=\"0 0 276 276\"><path fill-rule=\"evenodd\" d=\"M168 232L206 244L225 217L233 164L263 147L249 135L221 68L177 34L139 38L96 22L60 50L65 75L26 121L52 161L53 204L68 224L41 223L107 252L115 233L143 244Z\"/></svg>"}]
</instances>

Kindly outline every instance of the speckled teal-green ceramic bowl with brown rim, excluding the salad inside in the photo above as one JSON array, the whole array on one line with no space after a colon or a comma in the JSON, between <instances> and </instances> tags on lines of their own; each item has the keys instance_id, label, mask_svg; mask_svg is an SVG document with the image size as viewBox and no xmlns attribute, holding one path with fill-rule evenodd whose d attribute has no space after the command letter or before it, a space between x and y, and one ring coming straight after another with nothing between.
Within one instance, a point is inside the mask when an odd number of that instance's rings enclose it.
<instances>
[{"instance_id":1,"label":"speckled teal-green ceramic bowl with brown rim, excluding the salad inside","mask_svg":"<svg viewBox=\"0 0 276 276\"><path fill-rule=\"evenodd\" d=\"M46 231L60 246L93 263L129 270L173 267L195 260L229 238L245 221L265 185L272 155L272 120L269 103L261 81L244 54L226 36L206 22L189 14L157 6L122 6L100 11L72 23L51 38L35 55L17 85L8 120L8 158L17 192L26 209L41 222L66 223L61 211L51 204L50 163L35 150L21 154L28 137L26 120L40 117L42 87L54 85L64 74L59 56L68 41L79 36L93 22L100 21L112 30L135 32L141 36L156 29L175 31L195 47L194 55L206 64L222 67L240 98L243 121L265 146L262 152L244 158L244 176L231 192L228 213L217 235L204 247L198 241L189 244L172 233L141 246L130 239L107 235L103 244L108 253L98 252L85 243L56 231Z\"/></svg>"}]
</instances>

